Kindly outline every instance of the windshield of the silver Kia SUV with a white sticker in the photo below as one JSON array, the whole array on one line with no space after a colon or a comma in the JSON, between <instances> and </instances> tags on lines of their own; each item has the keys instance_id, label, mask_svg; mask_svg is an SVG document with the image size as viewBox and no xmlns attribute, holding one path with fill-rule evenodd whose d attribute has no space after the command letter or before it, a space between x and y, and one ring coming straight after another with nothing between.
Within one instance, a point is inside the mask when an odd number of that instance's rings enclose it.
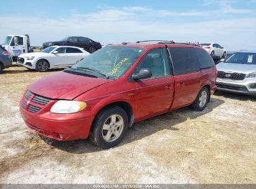
<instances>
[{"instance_id":1,"label":"windshield of the silver Kia SUV with a white sticker","mask_svg":"<svg viewBox=\"0 0 256 189\"><path fill-rule=\"evenodd\" d=\"M225 62L256 65L256 53L237 52L227 58Z\"/></svg>"}]
</instances>

